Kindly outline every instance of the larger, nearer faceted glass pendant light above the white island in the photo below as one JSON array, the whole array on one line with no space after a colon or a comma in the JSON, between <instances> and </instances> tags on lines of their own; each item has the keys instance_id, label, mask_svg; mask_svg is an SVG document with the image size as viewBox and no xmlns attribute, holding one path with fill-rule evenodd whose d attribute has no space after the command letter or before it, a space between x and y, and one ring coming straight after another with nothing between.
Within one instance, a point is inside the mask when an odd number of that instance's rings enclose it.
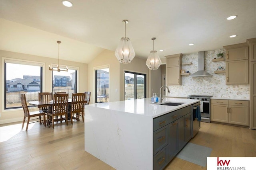
<instances>
[{"instance_id":1,"label":"larger, nearer faceted glass pendant light above the white island","mask_svg":"<svg viewBox=\"0 0 256 170\"><path fill-rule=\"evenodd\" d=\"M131 63L132 59L135 57L135 52L132 47L132 43L128 37L126 37L126 24L128 20L123 20L124 22L124 37L120 39L119 45L116 48L115 55L119 63L128 64Z\"/></svg>"}]
</instances>

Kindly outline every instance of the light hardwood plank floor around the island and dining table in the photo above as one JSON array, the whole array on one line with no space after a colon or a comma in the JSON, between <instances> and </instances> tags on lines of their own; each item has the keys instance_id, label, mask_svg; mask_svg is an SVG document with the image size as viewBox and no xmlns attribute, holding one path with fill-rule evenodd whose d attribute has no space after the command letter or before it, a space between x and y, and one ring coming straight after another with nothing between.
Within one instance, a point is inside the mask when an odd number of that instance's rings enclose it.
<instances>
[{"instance_id":1,"label":"light hardwood plank floor around the island and dining table","mask_svg":"<svg viewBox=\"0 0 256 170\"><path fill-rule=\"evenodd\" d=\"M0 170L114 170L84 151L84 123L58 123L55 129L37 123L0 127ZM212 148L212 157L256 157L256 130L216 123L201 123L191 143ZM206 170L206 167L174 158L165 170Z\"/></svg>"}]
</instances>

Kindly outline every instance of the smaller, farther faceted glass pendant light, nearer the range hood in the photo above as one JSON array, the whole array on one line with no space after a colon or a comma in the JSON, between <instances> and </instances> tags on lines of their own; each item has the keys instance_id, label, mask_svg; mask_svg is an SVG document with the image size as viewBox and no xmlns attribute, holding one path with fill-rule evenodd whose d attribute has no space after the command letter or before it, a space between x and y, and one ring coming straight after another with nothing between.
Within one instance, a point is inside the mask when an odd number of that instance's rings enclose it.
<instances>
[{"instance_id":1,"label":"smaller, farther faceted glass pendant light, nearer the range hood","mask_svg":"<svg viewBox=\"0 0 256 170\"><path fill-rule=\"evenodd\" d=\"M148 55L148 59L146 61L146 65L150 70L157 70L159 66L162 64L162 61L160 60L157 51L154 50L154 40L156 38L153 37L153 51L150 51Z\"/></svg>"}]
</instances>

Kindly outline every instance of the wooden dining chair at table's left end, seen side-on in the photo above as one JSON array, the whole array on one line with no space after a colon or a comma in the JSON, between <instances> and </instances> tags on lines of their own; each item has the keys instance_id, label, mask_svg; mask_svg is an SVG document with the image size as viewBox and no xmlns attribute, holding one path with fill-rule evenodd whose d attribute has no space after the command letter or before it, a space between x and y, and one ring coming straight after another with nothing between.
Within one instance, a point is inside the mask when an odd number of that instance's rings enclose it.
<instances>
[{"instance_id":1,"label":"wooden dining chair at table's left end, seen side-on","mask_svg":"<svg viewBox=\"0 0 256 170\"><path fill-rule=\"evenodd\" d=\"M28 124L34 123L34 122L38 122L38 121L29 122L30 120L38 119L38 118L30 119L30 117L38 117L38 116L41 117L41 116L43 116L44 126L46 126L46 123L45 123L45 113L44 112L41 112L41 111L32 111L32 112L30 112L29 109L28 109L28 105L27 105L26 95L25 94L20 94L20 101L21 101L21 105L22 105L22 108L23 108L23 111L24 111L24 119L23 119L23 123L22 123L22 129L24 127L24 123L26 121L26 117L28 118L26 131L28 131Z\"/></svg>"}]
</instances>

